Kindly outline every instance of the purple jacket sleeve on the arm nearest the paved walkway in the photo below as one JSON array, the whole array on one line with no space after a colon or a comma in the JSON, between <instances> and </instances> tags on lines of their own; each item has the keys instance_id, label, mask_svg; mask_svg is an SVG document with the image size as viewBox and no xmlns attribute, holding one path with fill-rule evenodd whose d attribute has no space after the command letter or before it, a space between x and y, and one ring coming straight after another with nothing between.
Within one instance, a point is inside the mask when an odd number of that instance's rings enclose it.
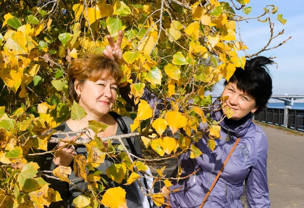
<instances>
[{"instance_id":1,"label":"purple jacket sleeve on the arm nearest the paved walkway","mask_svg":"<svg viewBox=\"0 0 304 208\"><path fill-rule=\"evenodd\" d=\"M269 191L267 180L267 149L265 133L258 128L255 135L256 163L246 179L246 198L249 208L269 208Z\"/></svg>"}]
</instances>

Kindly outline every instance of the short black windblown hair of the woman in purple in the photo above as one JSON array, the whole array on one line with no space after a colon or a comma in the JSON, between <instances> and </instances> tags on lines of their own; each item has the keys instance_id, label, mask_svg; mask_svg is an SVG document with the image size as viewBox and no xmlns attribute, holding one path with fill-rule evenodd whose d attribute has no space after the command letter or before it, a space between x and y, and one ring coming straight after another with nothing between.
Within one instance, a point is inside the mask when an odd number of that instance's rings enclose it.
<instances>
[{"instance_id":1,"label":"short black windblown hair of the woman in purple","mask_svg":"<svg viewBox=\"0 0 304 208\"><path fill-rule=\"evenodd\" d=\"M255 99L255 114L267 106L272 95L272 78L266 65L273 63L274 61L264 56L246 60L244 69L237 67L229 81L224 82L225 86L228 82L235 83L239 90Z\"/></svg>"}]
</instances>

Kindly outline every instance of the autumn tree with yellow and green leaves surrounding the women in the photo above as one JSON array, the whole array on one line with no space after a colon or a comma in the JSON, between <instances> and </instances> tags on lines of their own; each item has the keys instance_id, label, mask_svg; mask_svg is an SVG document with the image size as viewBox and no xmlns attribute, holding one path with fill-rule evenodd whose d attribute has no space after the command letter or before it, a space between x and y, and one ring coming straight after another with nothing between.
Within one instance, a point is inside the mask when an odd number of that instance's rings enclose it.
<instances>
[{"instance_id":1,"label":"autumn tree with yellow and green leaves surrounding the women","mask_svg":"<svg viewBox=\"0 0 304 208\"><path fill-rule=\"evenodd\" d=\"M284 32L275 34L274 22L285 24L286 20L276 14L278 8L273 5L265 7L260 16L251 17L248 4L249 0L1 1L0 206L43 207L61 200L58 192L49 188L43 179L46 174L33 159L43 157L49 143L59 142L52 135L62 133L50 133L50 129L70 116L81 119L86 114L80 105L69 103L67 99L66 70L71 60L87 52L102 53L108 45L106 34L116 38L119 30L124 31L121 85L131 84L134 102L138 104L131 128L138 133L95 137L86 144L87 150L107 153L102 148L103 142L110 146L112 140L121 142L136 135L146 148L160 156L173 154L170 157L176 157L187 150L192 151L191 157L201 155L202 152L191 145L191 141L197 141L202 135L202 131L197 131L199 123L207 123L205 131L210 131L214 137L218 137L220 129L217 122L204 114L212 105L211 97L204 95L205 90L222 78L229 80L236 67L244 68L245 58L277 48L288 40L271 48L271 41ZM240 33L241 21L269 24L269 42L260 51L248 54ZM239 56L241 51L245 56ZM132 74L136 75L136 82L130 78ZM171 108L160 111L155 118L155 109L140 99L144 88L159 99L169 100ZM115 111L129 114L125 106L126 101L118 96ZM172 133L164 134L167 127ZM104 131L103 126L92 121L79 132L79 137L88 128L96 133ZM179 129L184 134L179 134ZM77 145L79 141L67 144ZM208 144L212 149L215 142L210 140ZM92 146L99 148L90 148ZM124 167L124 173L116 176L108 170L107 175L120 183L126 176L127 183L133 183L140 177L138 173L145 170L143 164L147 160L134 157L123 145L116 148L127 153L110 154L121 157L121 164L116 165ZM87 165L94 172L96 165L102 162L103 154L99 155L96 161L74 158L74 162L84 170ZM163 175L164 168L157 171L155 183L164 181L169 187L170 181ZM70 168L59 166L53 174L58 180L68 181L70 172ZM86 172L78 176L85 180L89 177ZM100 177L91 177L88 181L91 191L77 197L75 205L126 207L122 188L103 189L104 186L96 185L102 183ZM113 191L117 198L111 198ZM157 205L164 203L163 194L149 193Z\"/></svg>"}]
</instances>

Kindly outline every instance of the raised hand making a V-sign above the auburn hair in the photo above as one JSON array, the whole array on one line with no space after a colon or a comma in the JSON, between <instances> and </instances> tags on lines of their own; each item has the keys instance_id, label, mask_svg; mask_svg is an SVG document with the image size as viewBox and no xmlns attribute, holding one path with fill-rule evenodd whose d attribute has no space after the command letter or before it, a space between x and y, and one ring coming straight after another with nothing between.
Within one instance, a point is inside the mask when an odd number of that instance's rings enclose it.
<instances>
[{"instance_id":1,"label":"raised hand making a V-sign above the auburn hair","mask_svg":"<svg viewBox=\"0 0 304 208\"><path fill-rule=\"evenodd\" d=\"M103 55L121 62L123 60L123 52L121 48L123 40L123 31L120 30L118 32L116 43L114 43L114 40L111 35L107 35L106 38L108 39L109 46L105 47L105 49L103 50Z\"/></svg>"}]
</instances>

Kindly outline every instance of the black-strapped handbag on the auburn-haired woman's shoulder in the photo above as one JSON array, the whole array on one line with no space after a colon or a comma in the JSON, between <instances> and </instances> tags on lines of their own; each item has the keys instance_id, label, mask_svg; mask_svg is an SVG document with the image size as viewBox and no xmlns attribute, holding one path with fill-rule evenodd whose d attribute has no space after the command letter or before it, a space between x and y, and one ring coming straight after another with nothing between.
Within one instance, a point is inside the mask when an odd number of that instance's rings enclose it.
<instances>
[{"instance_id":1,"label":"black-strapped handbag on the auburn-haired woman's shoulder","mask_svg":"<svg viewBox=\"0 0 304 208\"><path fill-rule=\"evenodd\" d=\"M117 112L114 112L114 111L110 111L109 114L116 120L116 122L117 122L119 128L121 129L121 131L122 131L124 134L128 134L128 133L129 133L128 127L127 127L127 125L126 125L124 119L122 118L122 116L119 115ZM135 149L135 147L134 147L134 145L133 145L131 139L130 139L130 138L126 138L126 139L127 139L127 142L128 142L128 145L129 145L129 147L130 147L130 149L131 149L132 154L134 154L134 155L137 156L137 157L142 158L142 155L140 155L140 154L138 154L138 153L136 152L136 149ZM146 172L148 175L151 175L151 171L150 171L149 167L148 167L148 170L145 171L145 172ZM143 174L143 175L144 175L144 174ZM146 177L148 177L148 176L146 176ZM146 177L142 177L142 180L141 180L141 181L143 181L143 184L144 184L144 186L145 186L146 189L150 189L151 187L153 187L153 180L152 180L152 183L151 183L150 180L147 181ZM138 187L139 187L139 186L138 186ZM139 189L140 189L140 187L139 187ZM141 192L141 190L140 190L140 192ZM148 194L148 191L146 191L146 192L147 192L147 194ZM143 195L143 196L147 198L147 202L148 202L149 206L150 206L150 207L153 207L153 201L150 200L150 197L147 197L147 196L145 196L145 195Z\"/></svg>"}]
</instances>

